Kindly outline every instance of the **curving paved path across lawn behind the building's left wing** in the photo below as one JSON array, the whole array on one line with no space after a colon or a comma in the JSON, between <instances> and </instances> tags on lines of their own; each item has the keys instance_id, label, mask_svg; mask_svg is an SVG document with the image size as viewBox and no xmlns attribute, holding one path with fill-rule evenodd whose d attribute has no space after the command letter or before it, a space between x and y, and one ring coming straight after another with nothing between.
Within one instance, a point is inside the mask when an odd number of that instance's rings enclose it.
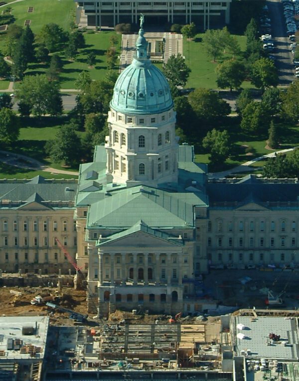
<instances>
[{"instance_id":1,"label":"curving paved path across lawn behind the building's left wing","mask_svg":"<svg viewBox=\"0 0 299 381\"><path fill-rule=\"evenodd\" d=\"M7 165L12 165L18 168L31 169L33 171L44 171L51 172L54 174L65 174L65 175L75 175L78 176L79 172L65 171L63 169L55 169L44 165L40 161L33 159L32 157L28 157L25 155L21 155L18 153L11 153L8 151L0 151L0 161Z\"/></svg>"}]
</instances>

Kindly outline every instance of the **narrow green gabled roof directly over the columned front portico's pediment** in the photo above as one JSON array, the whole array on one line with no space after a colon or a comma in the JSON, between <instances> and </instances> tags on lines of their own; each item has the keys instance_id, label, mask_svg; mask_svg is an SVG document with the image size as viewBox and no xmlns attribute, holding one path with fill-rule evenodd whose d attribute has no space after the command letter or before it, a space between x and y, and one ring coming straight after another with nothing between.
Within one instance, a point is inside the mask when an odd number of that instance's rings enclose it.
<instances>
[{"instance_id":1,"label":"narrow green gabled roof directly over the columned front portico's pediment","mask_svg":"<svg viewBox=\"0 0 299 381\"><path fill-rule=\"evenodd\" d=\"M146 225L142 220L139 220L132 228L124 230L120 233L116 233L111 235L110 237L105 238L99 238L97 242L97 246L105 246L106 244L110 244L113 241L119 240L121 238L127 237L131 234L134 234L136 232L144 232L151 236L154 236L158 239L167 241L168 244L171 245L177 245L177 246L183 246L184 243L181 239L178 239L177 237L173 237L167 233L160 232L156 229L149 228L148 225Z\"/></svg>"}]
</instances>

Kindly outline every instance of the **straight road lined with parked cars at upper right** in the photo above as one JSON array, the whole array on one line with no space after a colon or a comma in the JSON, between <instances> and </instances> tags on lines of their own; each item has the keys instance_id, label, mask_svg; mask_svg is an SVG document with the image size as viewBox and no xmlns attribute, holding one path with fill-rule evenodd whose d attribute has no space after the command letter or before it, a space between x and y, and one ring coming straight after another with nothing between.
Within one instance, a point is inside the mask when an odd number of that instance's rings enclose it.
<instances>
[{"instance_id":1,"label":"straight road lined with parked cars at upper right","mask_svg":"<svg viewBox=\"0 0 299 381\"><path fill-rule=\"evenodd\" d=\"M290 41L284 17L284 8L280 0L267 0L272 25L272 37L276 41L276 51L273 53L279 71L279 85L288 86L294 81L295 71Z\"/></svg>"}]
</instances>

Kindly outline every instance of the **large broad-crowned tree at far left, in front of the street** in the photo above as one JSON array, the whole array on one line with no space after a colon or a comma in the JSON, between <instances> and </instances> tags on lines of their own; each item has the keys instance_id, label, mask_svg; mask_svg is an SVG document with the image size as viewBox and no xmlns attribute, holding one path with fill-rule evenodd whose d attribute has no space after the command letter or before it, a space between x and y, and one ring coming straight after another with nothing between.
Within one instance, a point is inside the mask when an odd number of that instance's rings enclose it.
<instances>
[{"instance_id":1,"label":"large broad-crowned tree at far left, in front of the street","mask_svg":"<svg viewBox=\"0 0 299 381\"><path fill-rule=\"evenodd\" d=\"M49 82L45 74L26 76L19 88L16 97L22 107L30 109L36 116L62 114L62 99L57 82Z\"/></svg>"}]
</instances>

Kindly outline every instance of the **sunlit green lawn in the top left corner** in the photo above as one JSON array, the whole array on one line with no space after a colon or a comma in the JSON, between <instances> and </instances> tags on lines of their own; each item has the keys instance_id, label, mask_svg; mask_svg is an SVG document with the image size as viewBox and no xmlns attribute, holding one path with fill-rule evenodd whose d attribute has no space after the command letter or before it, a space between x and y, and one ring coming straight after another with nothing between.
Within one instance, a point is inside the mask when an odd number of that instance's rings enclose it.
<instances>
[{"instance_id":1,"label":"sunlit green lawn in the top left corner","mask_svg":"<svg viewBox=\"0 0 299 381\"><path fill-rule=\"evenodd\" d=\"M25 20L31 20L30 28L38 33L49 22L55 22L68 30L70 21L75 18L76 3L73 0L24 0L7 6L12 8L11 14L15 17L16 24L24 26ZM28 6L34 6L32 13L28 13ZM5 8L0 9L2 11Z\"/></svg>"}]
</instances>

